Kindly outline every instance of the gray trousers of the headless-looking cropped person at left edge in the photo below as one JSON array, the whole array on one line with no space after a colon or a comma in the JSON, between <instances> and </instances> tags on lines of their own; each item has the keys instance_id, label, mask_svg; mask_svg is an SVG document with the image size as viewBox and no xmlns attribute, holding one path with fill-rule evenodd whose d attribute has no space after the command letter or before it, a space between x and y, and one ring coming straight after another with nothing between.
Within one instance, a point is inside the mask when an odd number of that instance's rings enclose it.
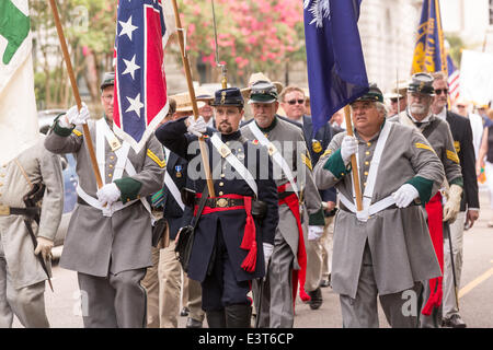
<instances>
[{"instance_id":1,"label":"gray trousers of the headless-looking cropped person at left edge","mask_svg":"<svg viewBox=\"0 0 493 350\"><path fill-rule=\"evenodd\" d=\"M11 328L13 316L26 328L48 328L45 282L15 289L0 242L0 328Z\"/></svg>"}]
</instances>

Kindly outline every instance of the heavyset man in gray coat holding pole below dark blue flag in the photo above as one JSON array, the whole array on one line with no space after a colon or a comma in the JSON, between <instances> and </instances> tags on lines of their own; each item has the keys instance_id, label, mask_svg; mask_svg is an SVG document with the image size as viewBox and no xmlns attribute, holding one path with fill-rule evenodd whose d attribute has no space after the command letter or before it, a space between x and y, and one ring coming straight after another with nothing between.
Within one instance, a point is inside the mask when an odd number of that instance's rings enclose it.
<instances>
[{"instance_id":1,"label":"heavyset man in gray coat holding pole below dark blue flag","mask_svg":"<svg viewBox=\"0 0 493 350\"><path fill-rule=\"evenodd\" d=\"M444 167L426 139L386 121L381 91L352 103L354 137L336 135L314 168L319 188L335 186L332 288L344 327L378 327L377 295L392 327L416 327L422 280L440 276L423 205L438 190ZM356 210L351 155L356 154L363 210Z\"/></svg>"}]
</instances>

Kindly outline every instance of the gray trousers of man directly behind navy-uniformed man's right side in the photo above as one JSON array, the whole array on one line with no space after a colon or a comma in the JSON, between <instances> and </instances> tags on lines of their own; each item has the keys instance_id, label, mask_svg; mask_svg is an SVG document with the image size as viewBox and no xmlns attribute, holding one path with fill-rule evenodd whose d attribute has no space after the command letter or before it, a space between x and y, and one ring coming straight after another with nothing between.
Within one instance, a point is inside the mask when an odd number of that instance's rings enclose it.
<instances>
[{"instance_id":1,"label":"gray trousers of man directly behind navy-uniformed man's right side","mask_svg":"<svg viewBox=\"0 0 493 350\"><path fill-rule=\"evenodd\" d=\"M274 250L265 281L253 283L254 304L260 328L293 328L293 261L295 256L283 235L276 230ZM262 285L263 284L263 285Z\"/></svg>"}]
</instances>

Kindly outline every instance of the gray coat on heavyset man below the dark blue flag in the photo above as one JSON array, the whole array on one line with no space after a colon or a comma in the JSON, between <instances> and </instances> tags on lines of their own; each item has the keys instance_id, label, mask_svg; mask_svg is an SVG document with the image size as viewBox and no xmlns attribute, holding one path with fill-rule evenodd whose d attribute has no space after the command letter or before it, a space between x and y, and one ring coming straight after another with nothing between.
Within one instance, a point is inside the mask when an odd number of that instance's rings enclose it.
<instances>
[{"instance_id":1,"label":"gray coat on heavyset man below the dark blue flag","mask_svg":"<svg viewBox=\"0 0 493 350\"><path fill-rule=\"evenodd\" d=\"M388 122L388 121L387 121ZM336 135L314 168L316 183L324 189L335 186L348 199L353 198L351 175L333 174L325 163L331 156L341 156L346 132ZM362 190L371 164L378 133L369 142L358 139L359 178ZM398 190L404 183L420 176L433 182L434 195L444 178L444 166L426 139L410 127L391 125L380 160L371 203ZM420 206L399 209L395 206L371 215L367 222L341 209L334 223L332 288L336 293L356 296L365 244L368 242L375 280L380 295L401 292L415 281L440 276L425 217Z\"/></svg>"}]
</instances>

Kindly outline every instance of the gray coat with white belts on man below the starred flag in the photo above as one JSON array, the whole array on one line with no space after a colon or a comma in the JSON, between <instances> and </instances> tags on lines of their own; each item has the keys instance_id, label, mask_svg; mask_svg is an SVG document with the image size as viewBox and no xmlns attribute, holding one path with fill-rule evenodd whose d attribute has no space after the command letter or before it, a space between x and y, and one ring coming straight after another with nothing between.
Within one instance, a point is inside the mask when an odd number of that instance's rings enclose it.
<instances>
[{"instance_id":1,"label":"gray coat with white belts on man below the starred flag","mask_svg":"<svg viewBox=\"0 0 493 350\"><path fill-rule=\"evenodd\" d=\"M96 130L89 122L92 143L96 152ZM91 197L96 197L98 186L92 170L82 128L69 129L54 127L48 133L45 147L54 153L73 153L77 160L79 185ZM62 133L64 136L61 136ZM122 139L118 138L121 142ZM105 172L101 174L106 184L112 182L117 158L105 144ZM145 198L161 189L164 178L162 145L151 136L139 153L130 148L128 160L136 170L133 179L140 183L138 198ZM127 172L123 178L129 177ZM72 213L64 252L60 258L62 268L91 276L106 277L108 272L146 268L151 261L151 219L141 201L104 217L102 211L78 203Z\"/></svg>"}]
</instances>

